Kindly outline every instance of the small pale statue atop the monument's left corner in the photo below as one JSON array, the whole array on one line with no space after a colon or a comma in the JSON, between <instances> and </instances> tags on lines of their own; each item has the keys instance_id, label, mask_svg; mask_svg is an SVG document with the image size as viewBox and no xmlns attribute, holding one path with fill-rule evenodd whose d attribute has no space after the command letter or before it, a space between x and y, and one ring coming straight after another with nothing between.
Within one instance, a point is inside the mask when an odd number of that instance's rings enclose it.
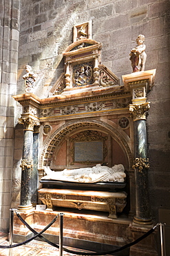
<instances>
[{"instance_id":1,"label":"small pale statue atop the monument's left corner","mask_svg":"<svg viewBox=\"0 0 170 256\"><path fill-rule=\"evenodd\" d=\"M25 86L26 86L25 92L32 93L32 89L35 84L34 82L36 81L36 74L32 72L32 67L29 65L26 65L25 69L27 71L27 73L23 75L23 79L25 80Z\"/></svg>"}]
</instances>

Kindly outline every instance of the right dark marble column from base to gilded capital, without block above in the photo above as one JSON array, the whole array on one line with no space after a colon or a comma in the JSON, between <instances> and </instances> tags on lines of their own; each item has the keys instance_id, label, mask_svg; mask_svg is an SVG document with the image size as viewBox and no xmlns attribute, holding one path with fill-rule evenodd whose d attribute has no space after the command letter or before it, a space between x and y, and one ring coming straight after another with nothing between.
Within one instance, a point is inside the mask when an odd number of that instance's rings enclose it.
<instances>
[{"instance_id":1,"label":"right dark marble column from base to gilded capital, without block above","mask_svg":"<svg viewBox=\"0 0 170 256\"><path fill-rule=\"evenodd\" d=\"M136 179L136 216L134 222L150 225L152 223L149 207L148 170L147 158L147 127L146 113L149 102L131 104L130 111L134 117L134 165Z\"/></svg>"}]
</instances>

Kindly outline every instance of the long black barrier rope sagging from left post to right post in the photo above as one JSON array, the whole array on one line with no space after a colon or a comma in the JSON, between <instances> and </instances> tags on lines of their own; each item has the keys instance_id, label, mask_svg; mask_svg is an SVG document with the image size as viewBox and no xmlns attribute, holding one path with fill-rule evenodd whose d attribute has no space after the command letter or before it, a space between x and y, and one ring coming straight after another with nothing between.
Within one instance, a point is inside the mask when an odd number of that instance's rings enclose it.
<instances>
[{"instance_id":1,"label":"long black barrier rope sagging from left post to right post","mask_svg":"<svg viewBox=\"0 0 170 256\"><path fill-rule=\"evenodd\" d=\"M52 243L51 241L49 241L48 239L46 239L45 237L43 237L40 233L37 233L33 228L30 227L30 225L24 221L24 219L19 215L19 213L17 213L17 217L19 217L19 219L24 223L25 226L27 226L32 232L34 232L34 234L36 234L36 236L40 237L41 239L43 239L43 241L47 242L47 244L50 244L51 246L54 246L56 248L59 248L59 245ZM131 246L134 246L135 244L138 244L139 241L142 241L142 239L145 239L146 237L148 237L149 235L151 235L151 233L157 228L158 225L154 226L153 228L151 228L151 230L149 230L147 233L145 233L144 235L142 235L141 237L139 237L138 239L136 239L135 241L132 241L129 244L126 244L125 246L122 246L118 249L115 250L107 250L105 252L102 253L83 253L83 252L77 252L75 250L69 250L65 247L63 247L63 250L65 250L65 252L67 253L72 253L72 254L76 254L76 255L108 255L108 254L113 254L113 253L118 253L121 250L125 250L126 248L129 248ZM44 232L44 231L43 231ZM0 247L1 248L1 247Z\"/></svg>"}]
</instances>

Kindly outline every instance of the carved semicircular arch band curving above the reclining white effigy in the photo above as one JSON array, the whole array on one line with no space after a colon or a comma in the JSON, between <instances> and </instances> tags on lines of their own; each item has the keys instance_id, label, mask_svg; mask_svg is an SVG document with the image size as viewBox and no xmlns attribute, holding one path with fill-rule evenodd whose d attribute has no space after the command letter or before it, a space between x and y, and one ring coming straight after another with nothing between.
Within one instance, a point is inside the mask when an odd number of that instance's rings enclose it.
<instances>
[{"instance_id":1,"label":"carved semicircular arch band curving above the reclining white effigy","mask_svg":"<svg viewBox=\"0 0 170 256\"><path fill-rule=\"evenodd\" d=\"M51 158L52 153L54 152L56 146L59 147L60 143L63 141L63 138L70 134L72 131L76 131L76 129L80 127L98 127L104 128L105 131L108 131L109 134L112 134L118 143L120 143L121 147L123 147L125 153L127 154L129 169L132 166L132 153L131 149L127 143L125 137L116 129L115 127L109 125L106 122L101 120L94 120L94 119L79 119L79 120L72 120L70 122L65 123L56 129L51 136L49 136L43 145L43 149L41 152L41 156L39 158L39 168L43 168L44 165L47 165L48 160Z\"/></svg>"}]
</instances>

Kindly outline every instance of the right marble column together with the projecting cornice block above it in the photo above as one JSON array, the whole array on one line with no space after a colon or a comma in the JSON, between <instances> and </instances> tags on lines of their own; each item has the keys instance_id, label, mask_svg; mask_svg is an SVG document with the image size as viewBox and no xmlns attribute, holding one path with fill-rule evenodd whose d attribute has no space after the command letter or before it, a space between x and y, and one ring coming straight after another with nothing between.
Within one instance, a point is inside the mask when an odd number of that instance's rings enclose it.
<instances>
[{"instance_id":1,"label":"right marble column together with the projecting cornice block above it","mask_svg":"<svg viewBox=\"0 0 170 256\"><path fill-rule=\"evenodd\" d=\"M134 173L136 186L136 215L134 223L150 225L149 210L149 159L147 156L146 117L149 110L147 93L154 85L156 69L123 75L125 91L130 91L132 104L129 111L134 118Z\"/></svg>"}]
</instances>

